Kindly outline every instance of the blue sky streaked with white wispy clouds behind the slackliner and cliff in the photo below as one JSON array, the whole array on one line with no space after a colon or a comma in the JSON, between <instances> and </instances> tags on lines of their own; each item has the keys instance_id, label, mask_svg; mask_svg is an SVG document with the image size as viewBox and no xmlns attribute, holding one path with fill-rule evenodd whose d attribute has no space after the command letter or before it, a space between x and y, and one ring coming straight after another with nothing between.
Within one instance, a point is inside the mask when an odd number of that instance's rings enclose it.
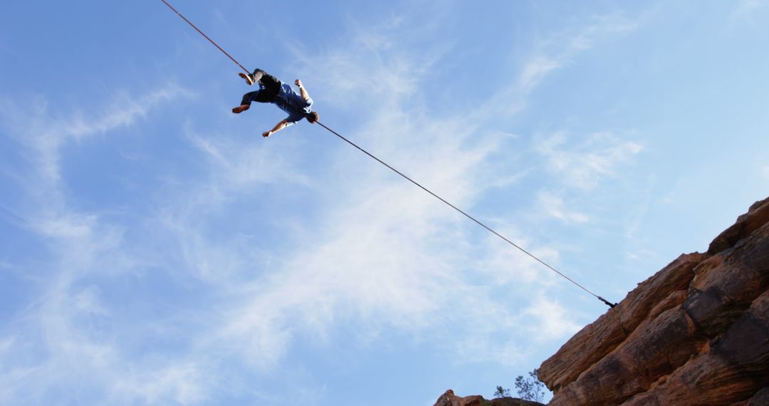
<instances>
[{"instance_id":1,"label":"blue sky streaked with white wispy clouds behind the slackliner and cliff","mask_svg":"<svg viewBox=\"0 0 769 406\"><path fill-rule=\"evenodd\" d=\"M765 2L175 2L611 301L769 190ZM161 2L0 16L0 404L491 397L606 306ZM365 400L365 401L364 401Z\"/></svg>"}]
</instances>

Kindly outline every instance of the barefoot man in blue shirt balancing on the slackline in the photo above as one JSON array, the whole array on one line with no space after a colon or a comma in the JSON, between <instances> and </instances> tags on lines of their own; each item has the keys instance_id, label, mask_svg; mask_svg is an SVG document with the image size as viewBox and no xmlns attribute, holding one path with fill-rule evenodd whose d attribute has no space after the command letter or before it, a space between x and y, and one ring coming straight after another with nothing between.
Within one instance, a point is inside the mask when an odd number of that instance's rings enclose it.
<instances>
[{"instance_id":1,"label":"barefoot man in blue shirt balancing on the slackline","mask_svg":"<svg viewBox=\"0 0 769 406\"><path fill-rule=\"evenodd\" d=\"M318 111L312 111L312 99L305 86L302 85L301 80L296 79L294 82L299 88L299 94L297 94L291 88L291 85L281 82L275 76L261 69L255 69L253 73L248 75L242 72L238 75L244 78L249 86L258 84L259 89L243 95L241 104L238 107L232 108L233 113L240 114L248 110L251 107L251 102L272 103L288 113L288 117L278 122L271 130L262 132L262 137L269 137L283 128L287 128L300 121L302 118L307 118L307 121L311 123L318 121Z\"/></svg>"}]
</instances>

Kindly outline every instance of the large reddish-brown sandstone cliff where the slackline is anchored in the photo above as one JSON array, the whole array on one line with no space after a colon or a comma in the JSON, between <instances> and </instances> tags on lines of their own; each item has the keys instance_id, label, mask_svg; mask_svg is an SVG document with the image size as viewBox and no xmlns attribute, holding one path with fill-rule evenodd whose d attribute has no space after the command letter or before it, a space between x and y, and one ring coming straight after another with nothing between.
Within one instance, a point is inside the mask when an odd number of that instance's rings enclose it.
<instances>
[{"instance_id":1,"label":"large reddish-brown sandstone cliff where the slackline is anchored","mask_svg":"<svg viewBox=\"0 0 769 406\"><path fill-rule=\"evenodd\" d=\"M544 361L549 405L769 405L767 288L769 198Z\"/></svg>"}]
</instances>

